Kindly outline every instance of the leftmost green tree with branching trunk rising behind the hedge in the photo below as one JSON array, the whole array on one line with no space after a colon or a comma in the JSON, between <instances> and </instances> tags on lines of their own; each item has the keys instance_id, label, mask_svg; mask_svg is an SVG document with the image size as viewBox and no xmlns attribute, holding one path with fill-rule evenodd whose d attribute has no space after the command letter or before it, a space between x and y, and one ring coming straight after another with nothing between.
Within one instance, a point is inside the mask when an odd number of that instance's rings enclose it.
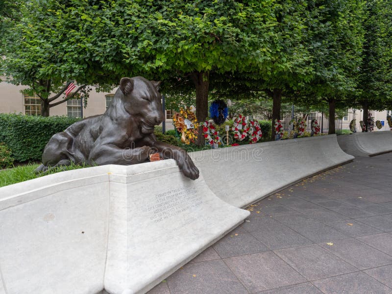
<instances>
[{"instance_id":1,"label":"leftmost green tree with branching trunk rising behind the hedge","mask_svg":"<svg viewBox=\"0 0 392 294\"><path fill-rule=\"evenodd\" d=\"M66 4L31 0L20 1L18 5L18 19L12 20L12 26L8 14L15 11L14 6L2 18L8 24L8 31L2 35L5 58L1 72L9 76L11 83L29 86L25 92L34 92L41 98L43 116L49 116L51 107L78 93L87 98L87 85L112 81L105 78L110 72L102 70L101 64L84 50L88 44L81 43L75 35L70 38L68 33L79 30L82 24L80 17L75 21L70 15L53 9ZM74 80L80 86L65 98L63 94Z\"/></svg>"}]
</instances>

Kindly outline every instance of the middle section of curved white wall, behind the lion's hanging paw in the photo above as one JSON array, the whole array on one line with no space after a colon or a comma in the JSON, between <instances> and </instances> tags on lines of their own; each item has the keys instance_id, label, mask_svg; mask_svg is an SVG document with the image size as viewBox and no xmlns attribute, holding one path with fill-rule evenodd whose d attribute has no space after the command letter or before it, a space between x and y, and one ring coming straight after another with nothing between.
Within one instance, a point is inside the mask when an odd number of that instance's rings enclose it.
<instances>
[{"instance_id":1,"label":"middle section of curved white wall, behind the lion's hanging paw","mask_svg":"<svg viewBox=\"0 0 392 294\"><path fill-rule=\"evenodd\" d=\"M190 153L210 189L246 207L313 174L354 159L336 135L324 135Z\"/></svg>"}]
</instances>

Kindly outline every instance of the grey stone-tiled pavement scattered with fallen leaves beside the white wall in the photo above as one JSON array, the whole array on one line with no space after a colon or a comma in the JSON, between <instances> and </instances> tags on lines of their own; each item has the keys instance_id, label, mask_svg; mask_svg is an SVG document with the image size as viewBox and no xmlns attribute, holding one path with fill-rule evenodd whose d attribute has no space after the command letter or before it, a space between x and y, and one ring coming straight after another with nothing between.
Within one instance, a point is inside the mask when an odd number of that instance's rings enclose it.
<instances>
[{"instance_id":1,"label":"grey stone-tiled pavement scattered with fallen leaves beside the white wall","mask_svg":"<svg viewBox=\"0 0 392 294\"><path fill-rule=\"evenodd\" d=\"M392 294L391 163L356 158L255 203L148 294Z\"/></svg>"}]
</instances>

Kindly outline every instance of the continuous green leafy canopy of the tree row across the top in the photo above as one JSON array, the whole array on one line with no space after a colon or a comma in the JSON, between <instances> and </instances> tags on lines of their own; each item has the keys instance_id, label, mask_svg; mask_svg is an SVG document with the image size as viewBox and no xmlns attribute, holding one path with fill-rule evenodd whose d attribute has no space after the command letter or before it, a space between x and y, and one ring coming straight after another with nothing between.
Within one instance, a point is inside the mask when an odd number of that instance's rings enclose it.
<instances>
[{"instance_id":1,"label":"continuous green leafy canopy of the tree row across the top","mask_svg":"<svg viewBox=\"0 0 392 294\"><path fill-rule=\"evenodd\" d=\"M0 5L0 24L7 26L0 37L2 72L30 86L46 115L65 101L62 91L70 81L80 90L85 85L103 90L135 75L163 80L166 93L181 86L180 94L184 87L194 91L199 121L208 115L211 93L254 99L263 91L272 98L272 120L279 118L284 97L297 105L324 101L330 116L336 107L391 105L390 0Z\"/></svg>"}]
</instances>

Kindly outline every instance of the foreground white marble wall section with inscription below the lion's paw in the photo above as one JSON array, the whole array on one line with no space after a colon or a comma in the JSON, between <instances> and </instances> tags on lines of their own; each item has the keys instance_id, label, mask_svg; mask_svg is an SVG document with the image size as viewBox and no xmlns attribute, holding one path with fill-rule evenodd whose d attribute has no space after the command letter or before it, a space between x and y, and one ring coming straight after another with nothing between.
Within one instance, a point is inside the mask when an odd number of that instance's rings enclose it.
<instances>
[{"instance_id":1,"label":"foreground white marble wall section with inscription below the lion's paw","mask_svg":"<svg viewBox=\"0 0 392 294\"><path fill-rule=\"evenodd\" d=\"M0 293L145 293L248 215L172 159L2 187Z\"/></svg>"}]
</instances>

